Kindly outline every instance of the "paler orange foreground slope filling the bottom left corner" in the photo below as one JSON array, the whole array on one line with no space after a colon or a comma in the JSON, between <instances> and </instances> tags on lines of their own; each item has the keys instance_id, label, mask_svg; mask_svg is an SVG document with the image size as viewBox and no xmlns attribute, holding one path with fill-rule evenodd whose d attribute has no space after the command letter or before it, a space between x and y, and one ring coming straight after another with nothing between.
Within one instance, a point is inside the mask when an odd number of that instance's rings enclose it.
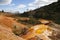
<instances>
[{"instance_id":1,"label":"paler orange foreground slope filling the bottom left corner","mask_svg":"<svg viewBox=\"0 0 60 40\"><path fill-rule=\"evenodd\" d=\"M24 40L24 39L14 35L9 29L7 29L6 27L2 27L0 25L0 40Z\"/></svg>"}]
</instances>

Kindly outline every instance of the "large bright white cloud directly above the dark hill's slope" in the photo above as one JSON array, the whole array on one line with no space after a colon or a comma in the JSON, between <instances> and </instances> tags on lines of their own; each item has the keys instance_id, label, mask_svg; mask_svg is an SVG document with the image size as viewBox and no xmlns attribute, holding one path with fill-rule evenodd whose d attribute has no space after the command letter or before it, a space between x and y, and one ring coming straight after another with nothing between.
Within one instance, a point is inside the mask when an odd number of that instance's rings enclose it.
<instances>
[{"instance_id":1,"label":"large bright white cloud directly above the dark hill's slope","mask_svg":"<svg viewBox=\"0 0 60 40\"><path fill-rule=\"evenodd\" d=\"M28 9L36 9L57 1L58 0L35 0L34 2L28 4Z\"/></svg>"}]
</instances>

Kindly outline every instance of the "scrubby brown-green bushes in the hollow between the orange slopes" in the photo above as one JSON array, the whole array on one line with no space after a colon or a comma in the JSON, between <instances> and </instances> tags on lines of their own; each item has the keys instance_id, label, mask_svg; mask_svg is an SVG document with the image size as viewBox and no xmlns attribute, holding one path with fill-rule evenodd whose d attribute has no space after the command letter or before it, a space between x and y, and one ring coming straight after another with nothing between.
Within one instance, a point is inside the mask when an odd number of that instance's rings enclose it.
<instances>
[{"instance_id":1,"label":"scrubby brown-green bushes in the hollow between the orange slopes","mask_svg":"<svg viewBox=\"0 0 60 40\"><path fill-rule=\"evenodd\" d=\"M20 36L20 35L25 35L28 31L27 31L28 29L27 28L21 28L21 27L19 27L19 26L14 26L14 28L13 28L13 33L15 34L15 35L17 35L17 36Z\"/></svg>"}]
</instances>

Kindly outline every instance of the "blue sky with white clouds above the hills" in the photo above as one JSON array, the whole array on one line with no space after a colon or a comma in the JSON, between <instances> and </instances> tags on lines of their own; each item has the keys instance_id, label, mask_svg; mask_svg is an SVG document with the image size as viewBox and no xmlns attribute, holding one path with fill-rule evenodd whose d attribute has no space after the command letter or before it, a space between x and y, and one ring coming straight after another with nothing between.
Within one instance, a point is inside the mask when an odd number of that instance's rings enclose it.
<instances>
[{"instance_id":1,"label":"blue sky with white clouds above the hills","mask_svg":"<svg viewBox=\"0 0 60 40\"><path fill-rule=\"evenodd\" d=\"M57 0L0 0L0 10L24 12L49 5Z\"/></svg>"}]
</instances>

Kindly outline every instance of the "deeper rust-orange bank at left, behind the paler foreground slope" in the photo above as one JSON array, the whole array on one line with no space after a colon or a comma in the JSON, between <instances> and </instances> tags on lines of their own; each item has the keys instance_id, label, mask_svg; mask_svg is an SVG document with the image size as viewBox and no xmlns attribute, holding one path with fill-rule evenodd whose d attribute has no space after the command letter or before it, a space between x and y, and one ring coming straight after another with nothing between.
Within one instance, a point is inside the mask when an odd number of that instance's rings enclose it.
<instances>
[{"instance_id":1,"label":"deeper rust-orange bank at left, behind the paler foreground slope","mask_svg":"<svg viewBox=\"0 0 60 40\"><path fill-rule=\"evenodd\" d=\"M9 28L12 28L15 25L22 28L26 26L26 25L16 22L14 18L6 17L6 16L0 16L0 24Z\"/></svg>"}]
</instances>

